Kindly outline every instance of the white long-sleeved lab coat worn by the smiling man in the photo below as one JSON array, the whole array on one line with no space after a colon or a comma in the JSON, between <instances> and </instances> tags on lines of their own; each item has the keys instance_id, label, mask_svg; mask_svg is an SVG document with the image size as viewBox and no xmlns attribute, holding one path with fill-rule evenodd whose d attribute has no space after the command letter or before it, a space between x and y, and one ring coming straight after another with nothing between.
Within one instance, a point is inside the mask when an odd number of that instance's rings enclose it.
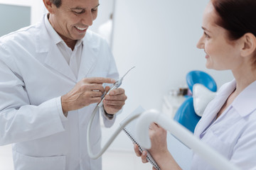
<instances>
[{"instance_id":1,"label":"white long-sleeved lab coat worn by the smiling man","mask_svg":"<svg viewBox=\"0 0 256 170\"><path fill-rule=\"evenodd\" d=\"M60 96L84 77L118 78L105 40L87 30L78 79L45 23L0 38L0 145L14 143L17 170L101 169L101 159L87 156L86 133L95 104L70 111L61 120ZM113 120L103 118L110 127ZM92 152L101 142L100 117L92 123Z\"/></svg>"}]
</instances>

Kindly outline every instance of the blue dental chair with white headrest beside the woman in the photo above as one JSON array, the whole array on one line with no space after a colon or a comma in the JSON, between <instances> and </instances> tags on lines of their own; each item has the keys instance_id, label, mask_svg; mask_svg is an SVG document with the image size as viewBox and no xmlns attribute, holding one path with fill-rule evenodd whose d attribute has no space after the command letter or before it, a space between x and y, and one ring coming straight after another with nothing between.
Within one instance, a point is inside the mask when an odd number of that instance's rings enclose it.
<instances>
[{"instance_id":1,"label":"blue dental chair with white headrest beside the woman","mask_svg":"<svg viewBox=\"0 0 256 170\"><path fill-rule=\"evenodd\" d=\"M213 77L199 70L188 72L186 82L193 96L189 96L183 101L174 115L174 120L194 132L204 109L215 96L217 85Z\"/></svg>"}]
</instances>

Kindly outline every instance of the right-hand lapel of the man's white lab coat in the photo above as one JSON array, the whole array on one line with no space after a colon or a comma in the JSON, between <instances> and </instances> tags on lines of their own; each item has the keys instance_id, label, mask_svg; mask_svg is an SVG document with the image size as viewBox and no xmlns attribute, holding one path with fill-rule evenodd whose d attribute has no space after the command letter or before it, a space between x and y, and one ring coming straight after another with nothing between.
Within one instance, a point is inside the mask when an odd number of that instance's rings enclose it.
<instances>
[{"instance_id":1,"label":"right-hand lapel of the man's white lab coat","mask_svg":"<svg viewBox=\"0 0 256 170\"><path fill-rule=\"evenodd\" d=\"M82 40L82 56L80 60L80 67L78 72L78 81L82 78L87 77L87 75L92 71L97 60L97 48L93 47L92 44L88 43L86 39Z\"/></svg>"}]
</instances>

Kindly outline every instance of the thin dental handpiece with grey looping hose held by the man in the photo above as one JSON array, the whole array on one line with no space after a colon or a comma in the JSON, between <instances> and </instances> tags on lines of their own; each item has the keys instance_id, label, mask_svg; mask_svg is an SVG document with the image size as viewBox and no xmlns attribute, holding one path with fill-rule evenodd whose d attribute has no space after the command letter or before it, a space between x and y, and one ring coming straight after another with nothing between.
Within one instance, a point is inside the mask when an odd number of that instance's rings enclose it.
<instances>
[{"instance_id":1,"label":"thin dental handpiece with grey looping hose held by the man","mask_svg":"<svg viewBox=\"0 0 256 170\"><path fill-rule=\"evenodd\" d=\"M91 118L90 118L90 122L88 124L88 127L87 127L87 151L88 151L88 154L89 154L89 157L92 158L92 159L97 159L98 157L100 157L104 152L105 150L107 149L107 147L110 146L110 144L113 142L114 138L117 137L117 135L119 134L119 132L124 128L125 125L127 125L129 122L131 122L134 118L137 118L139 115L136 115L134 117L132 117L130 120L127 120L126 122L124 122L124 124L122 126L119 126L119 128L114 132L114 134L112 135L112 137L110 137L110 140L107 141L107 143L105 144L104 147L102 147L102 150L98 153L98 154L93 154L92 153L92 149L91 149L91 145L90 145L90 129L91 129L91 126L92 126L92 121L98 111L98 109L100 108L100 106L102 106L102 102L104 101L105 99L105 96L107 94L110 94L110 91L112 91L113 89L117 89L119 86L121 86L122 84L122 81L124 79L124 77L132 70L134 69L134 67L130 68L125 74L124 76L115 81L114 84L110 87L110 89L105 92L105 94L102 95L102 99L99 103L97 103L97 106L95 107L95 109L93 110L92 112L92 115L91 115Z\"/></svg>"}]
</instances>

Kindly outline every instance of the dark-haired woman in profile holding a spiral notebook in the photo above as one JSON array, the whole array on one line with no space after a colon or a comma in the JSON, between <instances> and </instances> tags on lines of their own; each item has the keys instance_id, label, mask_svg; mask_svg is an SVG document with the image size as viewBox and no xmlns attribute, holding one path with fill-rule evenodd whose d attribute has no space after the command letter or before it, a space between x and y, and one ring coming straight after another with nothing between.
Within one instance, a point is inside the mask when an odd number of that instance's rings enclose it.
<instances>
[{"instance_id":1,"label":"dark-haired woman in profile holding a spiral notebook","mask_svg":"<svg viewBox=\"0 0 256 170\"><path fill-rule=\"evenodd\" d=\"M256 169L256 1L211 0L202 28L197 47L206 52L206 67L230 69L235 79L218 90L195 135L240 169ZM161 170L181 169L167 149L166 131L152 123L149 135ZM145 163L146 152L134 150ZM213 167L194 154L191 169Z\"/></svg>"}]
</instances>

